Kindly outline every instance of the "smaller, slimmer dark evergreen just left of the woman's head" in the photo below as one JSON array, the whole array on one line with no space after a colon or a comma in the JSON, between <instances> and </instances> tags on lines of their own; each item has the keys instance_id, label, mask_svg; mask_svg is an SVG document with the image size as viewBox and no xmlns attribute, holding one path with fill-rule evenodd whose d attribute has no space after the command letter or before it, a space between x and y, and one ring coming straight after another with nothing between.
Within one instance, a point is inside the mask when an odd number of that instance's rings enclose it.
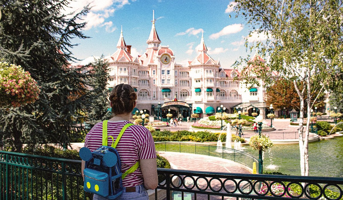
<instances>
[{"instance_id":1,"label":"smaller, slimmer dark evergreen just left of the woman's head","mask_svg":"<svg viewBox=\"0 0 343 200\"><path fill-rule=\"evenodd\" d=\"M92 107L91 110L88 112L88 119L87 121L91 127L93 127L96 123L109 119L111 117L110 112L110 102L108 100L108 96L110 90L107 89L107 67L108 62L106 62L103 56L92 64L93 73L95 75L94 79L94 89L92 91Z\"/></svg>"}]
</instances>

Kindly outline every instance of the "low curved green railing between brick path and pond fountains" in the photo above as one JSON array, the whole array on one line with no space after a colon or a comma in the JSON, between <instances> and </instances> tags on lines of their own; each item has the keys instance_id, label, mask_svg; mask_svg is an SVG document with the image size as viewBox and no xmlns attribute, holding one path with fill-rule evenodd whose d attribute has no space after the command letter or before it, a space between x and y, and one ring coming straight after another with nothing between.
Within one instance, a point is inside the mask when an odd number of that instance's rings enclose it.
<instances>
[{"instance_id":1,"label":"low curved green railing between brick path and pond fountains","mask_svg":"<svg viewBox=\"0 0 343 200\"><path fill-rule=\"evenodd\" d=\"M183 142L155 142L156 151L171 151L179 153L194 153L208 156L215 156L231 160L252 168L252 163L258 163L254 156L235 149L229 149L221 146L192 144ZM258 169L257 169L258 171Z\"/></svg>"}]
</instances>

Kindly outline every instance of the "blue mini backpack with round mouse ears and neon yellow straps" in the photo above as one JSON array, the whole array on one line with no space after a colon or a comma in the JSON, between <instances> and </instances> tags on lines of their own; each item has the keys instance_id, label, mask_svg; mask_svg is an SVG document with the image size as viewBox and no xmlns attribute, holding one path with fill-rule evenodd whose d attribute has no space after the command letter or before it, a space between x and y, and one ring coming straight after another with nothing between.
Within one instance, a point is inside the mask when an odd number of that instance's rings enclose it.
<instances>
[{"instance_id":1,"label":"blue mini backpack with round mouse ears and neon yellow straps","mask_svg":"<svg viewBox=\"0 0 343 200\"><path fill-rule=\"evenodd\" d=\"M125 173L121 173L121 164L118 151L115 149L122 134L132 123L126 124L120 131L116 141L112 136L107 136L107 121L103 121L102 146L91 152L83 147L79 155L86 162L83 188L86 192L115 199L123 193L122 179L129 173L134 172L139 162L135 163ZM112 138L112 145L107 146L107 138Z\"/></svg>"}]
</instances>

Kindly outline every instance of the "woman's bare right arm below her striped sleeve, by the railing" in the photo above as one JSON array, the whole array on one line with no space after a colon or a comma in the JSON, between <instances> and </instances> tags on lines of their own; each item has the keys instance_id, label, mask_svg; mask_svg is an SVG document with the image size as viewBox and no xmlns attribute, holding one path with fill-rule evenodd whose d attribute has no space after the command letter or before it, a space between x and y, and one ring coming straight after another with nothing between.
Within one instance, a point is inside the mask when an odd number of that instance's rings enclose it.
<instances>
[{"instance_id":1,"label":"woman's bare right arm below her striped sleeve, by the railing","mask_svg":"<svg viewBox=\"0 0 343 200\"><path fill-rule=\"evenodd\" d=\"M156 158L140 159L139 163L143 174L144 187L147 190L155 189L158 184Z\"/></svg>"}]
</instances>

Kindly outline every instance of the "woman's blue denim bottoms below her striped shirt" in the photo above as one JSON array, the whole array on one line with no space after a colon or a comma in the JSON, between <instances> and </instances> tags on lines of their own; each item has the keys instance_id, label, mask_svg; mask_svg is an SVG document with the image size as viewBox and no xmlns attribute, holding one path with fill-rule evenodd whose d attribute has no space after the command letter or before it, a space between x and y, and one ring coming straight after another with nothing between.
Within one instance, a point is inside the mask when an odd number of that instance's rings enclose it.
<instances>
[{"instance_id":1,"label":"woman's blue denim bottoms below her striped shirt","mask_svg":"<svg viewBox=\"0 0 343 200\"><path fill-rule=\"evenodd\" d=\"M116 198L116 200L129 200L129 199L136 199L136 200L149 200L148 193L146 192L146 189L144 185L138 185L135 186L136 191L135 192L126 192L125 188L123 193ZM94 195L93 200L108 200L105 197Z\"/></svg>"}]
</instances>

